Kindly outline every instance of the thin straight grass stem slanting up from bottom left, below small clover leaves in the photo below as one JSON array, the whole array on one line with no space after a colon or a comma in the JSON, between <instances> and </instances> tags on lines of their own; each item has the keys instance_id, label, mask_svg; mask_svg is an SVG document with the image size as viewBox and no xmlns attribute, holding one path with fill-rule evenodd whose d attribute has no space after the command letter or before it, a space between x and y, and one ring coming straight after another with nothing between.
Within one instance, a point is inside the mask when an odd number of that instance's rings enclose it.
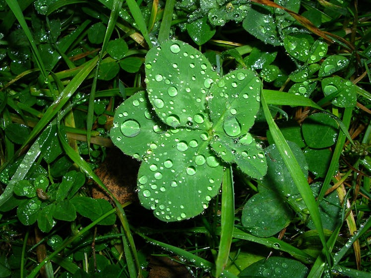
<instances>
[{"instance_id":1,"label":"thin straight grass stem slanting up from bottom left, below small clover leaves","mask_svg":"<svg viewBox=\"0 0 371 278\"><path fill-rule=\"evenodd\" d=\"M93 229L94 226L96 226L99 222L110 216L111 214L114 214L117 211L117 209L112 209L108 211L107 213L103 214L101 217L97 218L95 221L90 223L85 228L78 231L76 234L73 234L71 237L66 238L60 246L58 246L53 253L48 255L42 262L40 262L35 268L32 269L30 274L27 276L27 278L35 278L38 276L38 272L40 269L49 261L52 261L53 258L61 253L68 245L70 245L74 240L85 234L85 232L88 232L90 229Z\"/></svg>"}]
</instances>

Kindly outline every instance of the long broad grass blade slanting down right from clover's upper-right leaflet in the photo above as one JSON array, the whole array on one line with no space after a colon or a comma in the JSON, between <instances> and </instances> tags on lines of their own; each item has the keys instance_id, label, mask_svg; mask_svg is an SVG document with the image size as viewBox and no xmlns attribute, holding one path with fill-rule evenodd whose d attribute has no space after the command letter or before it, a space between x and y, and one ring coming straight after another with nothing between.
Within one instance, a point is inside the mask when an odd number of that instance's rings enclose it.
<instances>
[{"instance_id":1,"label":"long broad grass blade slanting down right from clover's upper-right leaflet","mask_svg":"<svg viewBox=\"0 0 371 278\"><path fill-rule=\"evenodd\" d=\"M294 153L290 149L287 141L283 137L281 131L274 122L272 115L270 114L264 93L261 94L261 105L263 107L265 119L269 126L269 131L271 132L273 140L276 143L277 149L281 154L281 157L287 169L289 170L289 173L309 210L314 226L317 229L319 238L324 247L327 262L331 264L331 255L327 248L326 238L322 227L322 221L319 215L317 203L315 202L313 196L313 192L309 187L308 181L304 176L298 161L295 159Z\"/></svg>"}]
</instances>

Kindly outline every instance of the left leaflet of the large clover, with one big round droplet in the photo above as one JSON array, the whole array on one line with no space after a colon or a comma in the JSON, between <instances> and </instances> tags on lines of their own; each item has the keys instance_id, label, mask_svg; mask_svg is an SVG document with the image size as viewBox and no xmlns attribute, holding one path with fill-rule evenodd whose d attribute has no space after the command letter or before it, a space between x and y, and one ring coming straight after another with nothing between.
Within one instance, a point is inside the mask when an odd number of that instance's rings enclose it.
<instances>
[{"instance_id":1,"label":"left leaflet of the large clover, with one big round droplet","mask_svg":"<svg viewBox=\"0 0 371 278\"><path fill-rule=\"evenodd\" d=\"M143 159L162 133L167 130L151 109L143 91L125 100L116 110L110 135L114 143L127 155Z\"/></svg>"}]
</instances>

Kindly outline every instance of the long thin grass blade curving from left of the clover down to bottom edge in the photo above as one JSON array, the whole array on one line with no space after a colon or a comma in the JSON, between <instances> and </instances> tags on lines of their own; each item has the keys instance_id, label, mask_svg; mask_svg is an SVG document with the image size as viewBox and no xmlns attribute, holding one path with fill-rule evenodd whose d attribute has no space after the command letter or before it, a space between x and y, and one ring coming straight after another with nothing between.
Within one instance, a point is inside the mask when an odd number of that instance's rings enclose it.
<instances>
[{"instance_id":1,"label":"long thin grass blade curving from left of the clover down to bottom edge","mask_svg":"<svg viewBox=\"0 0 371 278\"><path fill-rule=\"evenodd\" d=\"M58 125L59 126L59 125ZM58 128L58 136L60 138L61 145L63 147L64 152L68 155L68 157L76 163L76 165L86 174L88 177L90 177L97 185L99 185L103 190L105 190L114 200L116 205L116 210L118 212L118 217L121 221L121 224L124 228L125 232L125 240L128 241L128 244L131 248L131 254L126 256L126 259L133 258L133 262L130 262L130 265L135 265L136 267L136 274L138 276L141 276L140 266L139 266L139 260L138 255L135 249L134 239L132 237L132 234L130 232L129 223L126 219L126 214L124 212L124 209L120 202L116 199L116 197L111 193L111 191L102 183L102 181L99 179L99 177L94 173L94 171L91 169L89 164L76 152L74 151L66 142L65 140L65 134L64 130ZM126 254L125 254L126 255ZM129 262L127 263L129 265Z\"/></svg>"}]
</instances>

